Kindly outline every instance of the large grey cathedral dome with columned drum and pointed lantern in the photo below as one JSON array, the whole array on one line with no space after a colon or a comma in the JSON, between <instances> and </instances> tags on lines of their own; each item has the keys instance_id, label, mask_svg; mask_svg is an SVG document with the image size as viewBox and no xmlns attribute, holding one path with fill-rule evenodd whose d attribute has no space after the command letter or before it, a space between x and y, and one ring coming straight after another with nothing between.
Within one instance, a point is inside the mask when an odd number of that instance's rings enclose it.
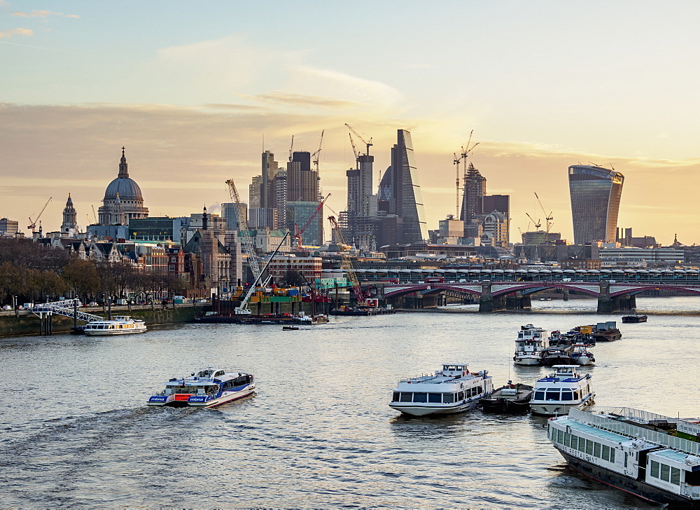
<instances>
[{"instance_id":1,"label":"large grey cathedral dome with columned drum and pointed lantern","mask_svg":"<svg viewBox=\"0 0 700 510\"><path fill-rule=\"evenodd\" d=\"M148 218L148 207L144 207L141 188L129 177L124 151L122 147L117 178L107 186L102 207L98 209L100 225L128 225L132 218Z\"/></svg>"}]
</instances>

